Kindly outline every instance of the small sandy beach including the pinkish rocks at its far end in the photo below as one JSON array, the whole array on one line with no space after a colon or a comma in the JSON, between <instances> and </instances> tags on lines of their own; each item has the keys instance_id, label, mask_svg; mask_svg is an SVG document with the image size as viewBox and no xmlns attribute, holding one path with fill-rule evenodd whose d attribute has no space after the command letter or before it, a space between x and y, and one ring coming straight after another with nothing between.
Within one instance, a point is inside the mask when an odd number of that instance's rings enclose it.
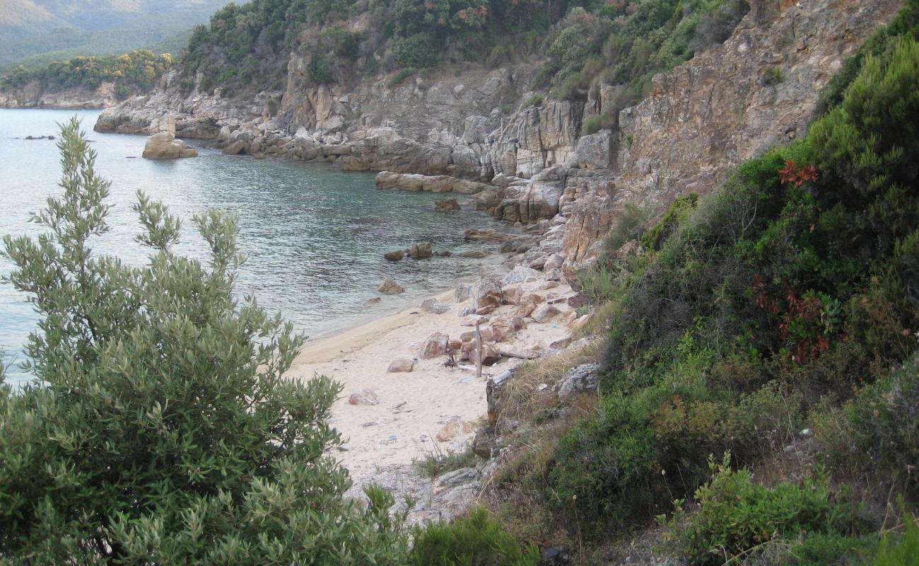
<instances>
[{"instance_id":1,"label":"small sandy beach including the pinkish rocks at its far end","mask_svg":"<svg viewBox=\"0 0 919 566\"><path fill-rule=\"evenodd\" d=\"M477 378L474 364L445 364L449 360L445 351L426 359L422 353L425 342L438 333L446 335L442 339L456 344L455 348L460 341L471 340L475 316L466 313L482 296L477 298L475 291L471 297L464 296L469 283L458 283L459 292L455 288L428 295L397 312L308 342L291 364L289 379L326 375L343 387L329 424L344 441L333 456L354 481L350 496L360 497L364 485L379 483L393 492L397 502L406 495L418 501L412 522L446 520L461 513L477 490L441 486L437 479L423 477L414 462L470 450L475 430L487 422L488 379L524 363L522 358L528 356L520 352L545 357L573 339L577 313L567 305L568 297L575 295L571 287L563 281L547 281L539 271L524 271L525 277L508 283L505 276L511 269L506 264L511 258L496 257L504 262L483 264L477 283L491 281L498 288L504 286L505 300L482 317L482 332L486 349L505 354L496 364L482 367L482 378ZM557 313L550 318L538 316L540 321L529 314L521 317L521 309L526 310L527 305L513 298L514 288L527 294L528 300L539 295L539 304L551 304ZM458 295L462 299L459 302L455 300ZM429 299L439 306L434 312L420 306ZM533 306L528 310L532 312ZM515 319L521 327L518 331L501 341L487 338L494 327ZM456 357L459 360L459 352ZM410 371L388 371L396 360L408 363Z\"/></svg>"}]
</instances>

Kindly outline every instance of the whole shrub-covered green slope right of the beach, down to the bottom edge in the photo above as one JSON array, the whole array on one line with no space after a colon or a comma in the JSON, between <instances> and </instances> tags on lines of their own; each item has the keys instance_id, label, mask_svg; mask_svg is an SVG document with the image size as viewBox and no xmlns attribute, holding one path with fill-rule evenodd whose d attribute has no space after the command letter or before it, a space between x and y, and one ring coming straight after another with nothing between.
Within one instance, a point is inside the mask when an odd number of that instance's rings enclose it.
<instances>
[{"instance_id":1,"label":"whole shrub-covered green slope right of the beach, down to the bottom edge","mask_svg":"<svg viewBox=\"0 0 919 566\"><path fill-rule=\"evenodd\" d=\"M614 226L584 277L608 320L600 399L523 436L505 525L602 548L660 515L693 564L863 564L898 496L915 509L917 23L913 1L868 40L806 139Z\"/></svg>"}]
</instances>

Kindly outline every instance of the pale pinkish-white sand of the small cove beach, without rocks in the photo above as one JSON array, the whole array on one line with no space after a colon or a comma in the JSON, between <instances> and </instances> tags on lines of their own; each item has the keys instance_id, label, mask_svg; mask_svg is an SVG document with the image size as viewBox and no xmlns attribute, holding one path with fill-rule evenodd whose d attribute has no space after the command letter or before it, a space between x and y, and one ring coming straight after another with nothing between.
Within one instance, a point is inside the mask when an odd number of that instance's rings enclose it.
<instances>
[{"instance_id":1,"label":"pale pinkish-white sand of the small cove beach, without rocks","mask_svg":"<svg viewBox=\"0 0 919 566\"><path fill-rule=\"evenodd\" d=\"M571 290L562 283L543 292L549 294L569 295ZM332 424L346 439L346 451L338 455L358 485L373 480L383 470L404 469L416 457L461 449L471 440L471 431L447 443L438 443L435 435L455 417L463 422L484 419L487 377L516 363L514 360L485 367L482 379L476 378L474 367L471 370L445 367L446 357L418 359L411 373L388 374L386 370L393 359L416 358L421 343L434 332L444 332L451 340L459 340L459 334L471 330L459 324L459 309L466 304L454 304L453 291L436 298L451 306L450 311L437 315L418 307L409 308L335 336L308 342L289 372L299 379L313 374L329 375L345 387L342 399L333 407ZM570 310L563 303L557 306L562 312ZM492 318L513 309L502 306ZM548 352L551 341L568 333L562 316L546 324L529 322L528 329L518 334L514 344L540 344ZM377 394L379 404L348 404L348 396L364 388Z\"/></svg>"}]
</instances>

